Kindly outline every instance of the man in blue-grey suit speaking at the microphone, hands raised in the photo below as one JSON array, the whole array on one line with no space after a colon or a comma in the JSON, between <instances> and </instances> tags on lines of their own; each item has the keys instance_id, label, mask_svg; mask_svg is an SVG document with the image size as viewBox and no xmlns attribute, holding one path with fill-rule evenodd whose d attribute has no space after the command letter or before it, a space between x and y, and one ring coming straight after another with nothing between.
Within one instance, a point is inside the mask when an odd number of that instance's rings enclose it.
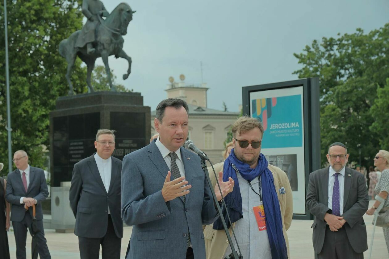
<instances>
[{"instance_id":1,"label":"man in blue-grey suit speaking at the microphone, hands raised","mask_svg":"<svg viewBox=\"0 0 389 259\"><path fill-rule=\"evenodd\" d=\"M123 159L122 218L133 225L127 259L205 258L202 225L218 214L200 158L182 148L187 111L185 101L163 100L154 120L158 139ZM221 177L225 196L234 182ZM220 201L217 187L215 193Z\"/></svg>"}]
</instances>

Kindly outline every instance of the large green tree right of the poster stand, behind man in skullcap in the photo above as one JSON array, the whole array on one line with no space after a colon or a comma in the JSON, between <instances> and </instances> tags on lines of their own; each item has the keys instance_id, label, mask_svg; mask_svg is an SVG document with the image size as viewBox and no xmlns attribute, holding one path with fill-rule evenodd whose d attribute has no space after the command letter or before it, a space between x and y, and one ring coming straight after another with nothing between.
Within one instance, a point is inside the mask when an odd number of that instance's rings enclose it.
<instances>
[{"instance_id":1,"label":"large green tree right of the poster stand, behind man in skullcap","mask_svg":"<svg viewBox=\"0 0 389 259\"><path fill-rule=\"evenodd\" d=\"M320 79L320 124L322 163L326 163L329 144L342 141L348 147L350 161L369 166L379 149L377 131L370 108L377 99L377 87L389 77L389 23L364 34L338 34L323 37L303 53L294 54L303 67L294 71L299 78L318 76Z\"/></svg>"}]
</instances>

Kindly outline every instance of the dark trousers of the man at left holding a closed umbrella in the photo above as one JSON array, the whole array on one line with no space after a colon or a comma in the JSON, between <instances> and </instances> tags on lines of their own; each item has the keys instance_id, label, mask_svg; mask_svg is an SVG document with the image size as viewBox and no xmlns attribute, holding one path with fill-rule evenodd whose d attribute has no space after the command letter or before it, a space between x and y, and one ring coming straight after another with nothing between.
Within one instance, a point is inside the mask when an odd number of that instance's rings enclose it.
<instances>
[{"instance_id":1,"label":"dark trousers of the man at left holding a closed umbrella","mask_svg":"<svg viewBox=\"0 0 389 259\"><path fill-rule=\"evenodd\" d=\"M26 239L27 239L27 228L31 233L31 223L32 217L27 211L25 217L20 222L12 221L12 226L14 227L15 243L16 243L16 259L26 259ZM40 230L35 238L38 243L38 254L41 259L51 259L49 248L47 247L47 242L45 238L45 233L43 230L43 221L37 221L37 227ZM29 245L28 247L31 247Z\"/></svg>"}]
</instances>

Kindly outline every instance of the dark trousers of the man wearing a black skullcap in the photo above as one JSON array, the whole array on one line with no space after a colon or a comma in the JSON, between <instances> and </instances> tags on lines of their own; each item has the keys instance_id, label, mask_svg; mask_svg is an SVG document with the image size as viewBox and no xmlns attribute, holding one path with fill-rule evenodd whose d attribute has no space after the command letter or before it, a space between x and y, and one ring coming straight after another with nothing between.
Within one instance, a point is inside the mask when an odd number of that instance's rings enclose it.
<instances>
[{"instance_id":1,"label":"dark trousers of the man wearing a black skullcap","mask_svg":"<svg viewBox=\"0 0 389 259\"><path fill-rule=\"evenodd\" d=\"M363 253L356 253L352 249L346 229L331 231L326 226L323 249L317 255L318 259L363 259Z\"/></svg>"}]
</instances>

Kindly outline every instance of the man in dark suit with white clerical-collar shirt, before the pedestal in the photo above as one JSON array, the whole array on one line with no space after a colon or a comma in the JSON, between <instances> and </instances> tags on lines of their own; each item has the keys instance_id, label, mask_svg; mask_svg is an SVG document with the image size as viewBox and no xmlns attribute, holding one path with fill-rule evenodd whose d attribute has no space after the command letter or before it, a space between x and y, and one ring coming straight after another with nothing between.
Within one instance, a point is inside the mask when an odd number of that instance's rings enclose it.
<instances>
[{"instance_id":1,"label":"man in dark suit with white clerical-collar shirt, before the pedestal","mask_svg":"<svg viewBox=\"0 0 389 259\"><path fill-rule=\"evenodd\" d=\"M121 209L121 160L114 158L114 130L96 134L96 153L74 165L70 207L75 216L81 259L119 259L123 221Z\"/></svg>"}]
</instances>

